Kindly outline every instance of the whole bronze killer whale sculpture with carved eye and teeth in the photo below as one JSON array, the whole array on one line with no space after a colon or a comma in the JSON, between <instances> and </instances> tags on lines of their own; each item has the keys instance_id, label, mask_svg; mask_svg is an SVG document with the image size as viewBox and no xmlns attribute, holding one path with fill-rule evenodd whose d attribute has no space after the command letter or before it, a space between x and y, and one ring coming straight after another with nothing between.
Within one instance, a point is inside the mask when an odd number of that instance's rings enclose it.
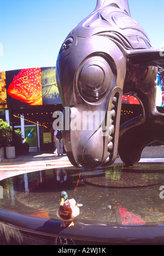
<instances>
[{"instance_id":1,"label":"whole bronze killer whale sculpture with carved eye and teeth","mask_svg":"<svg viewBox=\"0 0 164 256\"><path fill-rule=\"evenodd\" d=\"M63 106L70 107L70 121L86 111L106 112L105 126L99 120L97 129L63 131L74 166L109 166L118 151L131 166L149 143L164 142L164 115L155 104L158 66L164 66L160 50L152 48L142 26L131 18L128 1L97 0L96 9L68 34L56 63L57 84ZM123 93L136 96L143 110L120 126ZM89 124L90 118L85 118L83 123ZM106 127L109 134L102 136Z\"/></svg>"}]
</instances>

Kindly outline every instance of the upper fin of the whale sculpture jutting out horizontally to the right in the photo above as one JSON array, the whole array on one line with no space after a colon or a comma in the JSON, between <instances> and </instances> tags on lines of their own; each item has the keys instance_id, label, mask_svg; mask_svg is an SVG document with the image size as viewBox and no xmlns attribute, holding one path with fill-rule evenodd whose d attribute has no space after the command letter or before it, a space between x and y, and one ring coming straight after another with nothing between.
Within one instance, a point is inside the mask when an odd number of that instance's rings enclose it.
<instances>
[{"instance_id":1,"label":"upper fin of the whale sculpture jutting out horizontally to the right","mask_svg":"<svg viewBox=\"0 0 164 256\"><path fill-rule=\"evenodd\" d=\"M160 66L164 68L164 49L129 51L127 54L127 60L134 65Z\"/></svg>"}]
</instances>

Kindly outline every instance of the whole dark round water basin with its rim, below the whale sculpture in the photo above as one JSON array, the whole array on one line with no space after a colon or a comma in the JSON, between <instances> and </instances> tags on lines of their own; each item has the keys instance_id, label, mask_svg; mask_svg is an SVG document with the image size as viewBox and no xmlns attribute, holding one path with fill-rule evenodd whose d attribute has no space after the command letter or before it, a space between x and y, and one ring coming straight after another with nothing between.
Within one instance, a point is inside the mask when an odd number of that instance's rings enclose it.
<instances>
[{"instance_id":1,"label":"whole dark round water basin with its rim, below the whale sculpture","mask_svg":"<svg viewBox=\"0 0 164 256\"><path fill-rule=\"evenodd\" d=\"M54 168L0 182L2 245L164 244L164 165ZM61 191L83 206L74 226L56 215Z\"/></svg>"}]
</instances>

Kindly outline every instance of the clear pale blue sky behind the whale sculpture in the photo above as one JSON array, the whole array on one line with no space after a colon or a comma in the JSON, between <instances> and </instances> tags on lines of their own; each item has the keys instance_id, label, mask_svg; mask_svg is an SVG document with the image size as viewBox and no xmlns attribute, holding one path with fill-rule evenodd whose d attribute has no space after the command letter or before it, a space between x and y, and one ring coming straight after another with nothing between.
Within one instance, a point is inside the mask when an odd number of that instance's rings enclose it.
<instances>
[{"instance_id":1,"label":"clear pale blue sky behind the whale sculpture","mask_svg":"<svg viewBox=\"0 0 164 256\"><path fill-rule=\"evenodd\" d=\"M0 71L55 66L72 28L96 7L96 0L0 0ZM154 48L164 45L164 1L129 0L131 16Z\"/></svg>"}]
</instances>

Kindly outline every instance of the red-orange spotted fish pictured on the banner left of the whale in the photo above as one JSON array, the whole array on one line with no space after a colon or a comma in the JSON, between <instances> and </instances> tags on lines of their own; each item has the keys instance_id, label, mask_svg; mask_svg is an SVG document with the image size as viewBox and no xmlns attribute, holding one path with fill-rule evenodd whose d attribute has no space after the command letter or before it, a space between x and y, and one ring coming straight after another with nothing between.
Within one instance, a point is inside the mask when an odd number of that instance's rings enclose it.
<instances>
[{"instance_id":1,"label":"red-orange spotted fish pictured on the banner left of the whale","mask_svg":"<svg viewBox=\"0 0 164 256\"><path fill-rule=\"evenodd\" d=\"M41 69L21 69L10 83L7 92L14 99L31 106L42 105Z\"/></svg>"}]
</instances>

